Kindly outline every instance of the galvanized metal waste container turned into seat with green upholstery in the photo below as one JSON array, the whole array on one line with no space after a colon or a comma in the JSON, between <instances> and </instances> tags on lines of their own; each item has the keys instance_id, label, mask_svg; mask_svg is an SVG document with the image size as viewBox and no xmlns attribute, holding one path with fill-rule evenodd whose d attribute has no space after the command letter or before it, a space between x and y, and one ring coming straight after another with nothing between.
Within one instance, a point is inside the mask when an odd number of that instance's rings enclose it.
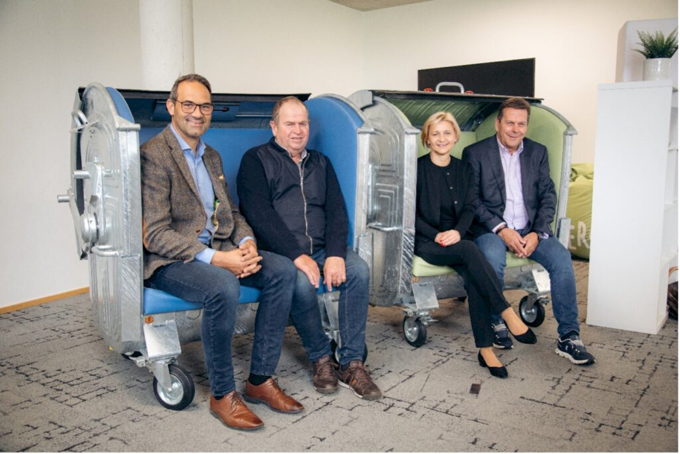
<instances>
[{"instance_id":1,"label":"galvanized metal waste container turned into seat with green upholstery","mask_svg":"<svg viewBox=\"0 0 680 454\"><path fill-rule=\"evenodd\" d=\"M401 92L361 90L349 99L367 117L375 133L365 156L365 221L359 250L371 266L371 303L398 305L405 310L404 330L411 345L426 340L426 326L439 304L437 299L464 297L462 279L452 268L432 266L413 255L415 237L416 160L427 153L420 143L420 128L437 111L448 111L460 125L460 140L452 154L495 134L494 119L500 103L508 97L444 92ZM566 245L569 220L566 197L571 162L571 144L577 132L556 111L528 99L532 104L527 137L548 147L551 177L558 192L554 229ZM359 223L357 223L359 225ZM508 257L506 288L527 290L520 315L538 326L549 302L549 279L541 266L526 259Z\"/></svg>"}]
</instances>

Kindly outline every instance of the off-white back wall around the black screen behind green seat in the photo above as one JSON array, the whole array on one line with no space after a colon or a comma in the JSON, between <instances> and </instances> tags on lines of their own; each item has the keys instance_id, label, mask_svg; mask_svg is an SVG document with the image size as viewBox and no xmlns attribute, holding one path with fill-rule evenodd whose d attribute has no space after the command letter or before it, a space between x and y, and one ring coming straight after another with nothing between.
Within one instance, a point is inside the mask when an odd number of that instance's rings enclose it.
<instances>
[{"instance_id":1,"label":"off-white back wall around the black screen behind green seat","mask_svg":"<svg viewBox=\"0 0 680 454\"><path fill-rule=\"evenodd\" d=\"M536 96L579 131L572 162L592 162L597 86L615 80L619 29L654 18L677 18L677 1L435 0L367 12L366 83L415 90L418 69L536 58Z\"/></svg>"}]
</instances>

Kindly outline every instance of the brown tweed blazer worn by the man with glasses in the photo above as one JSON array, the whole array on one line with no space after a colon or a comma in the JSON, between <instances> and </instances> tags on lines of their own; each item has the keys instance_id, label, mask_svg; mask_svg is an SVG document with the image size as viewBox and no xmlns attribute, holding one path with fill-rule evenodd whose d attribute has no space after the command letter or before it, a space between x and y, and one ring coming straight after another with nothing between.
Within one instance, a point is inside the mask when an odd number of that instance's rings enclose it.
<instances>
[{"instance_id":1,"label":"brown tweed blazer worn by the man with glasses","mask_svg":"<svg viewBox=\"0 0 680 454\"><path fill-rule=\"evenodd\" d=\"M141 145L140 152L144 279L148 279L160 266L177 260L190 262L207 247L199 241L207 219L194 177L170 126ZM254 234L231 200L218 152L206 145L203 162L220 202L210 247L218 251L236 249L241 239Z\"/></svg>"}]
</instances>

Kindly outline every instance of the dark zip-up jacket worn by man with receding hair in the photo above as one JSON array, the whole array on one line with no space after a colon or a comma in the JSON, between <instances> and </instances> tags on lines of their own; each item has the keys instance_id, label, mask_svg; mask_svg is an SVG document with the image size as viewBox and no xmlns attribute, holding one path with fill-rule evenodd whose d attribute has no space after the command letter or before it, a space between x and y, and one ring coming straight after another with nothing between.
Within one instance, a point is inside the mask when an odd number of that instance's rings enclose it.
<instances>
[{"instance_id":1,"label":"dark zip-up jacket worn by man with receding hair","mask_svg":"<svg viewBox=\"0 0 680 454\"><path fill-rule=\"evenodd\" d=\"M326 248L345 258L349 222L333 165L307 150L301 165L272 137L241 158L237 175L241 213L258 247L295 260Z\"/></svg>"}]
</instances>

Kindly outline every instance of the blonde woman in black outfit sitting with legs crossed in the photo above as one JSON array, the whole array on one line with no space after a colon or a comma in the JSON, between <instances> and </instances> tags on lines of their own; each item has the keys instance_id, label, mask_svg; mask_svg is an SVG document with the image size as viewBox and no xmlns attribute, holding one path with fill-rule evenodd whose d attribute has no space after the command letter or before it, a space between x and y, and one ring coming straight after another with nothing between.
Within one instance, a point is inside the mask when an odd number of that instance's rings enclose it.
<instances>
[{"instance_id":1,"label":"blonde woman in black outfit sitting with legs crossed","mask_svg":"<svg viewBox=\"0 0 680 454\"><path fill-rule=\"evenodd\" d=\"M461 275L479 348L477 360L494 377L505 379L507 370L492 349L491 315L503 317L519 342L534 344L537 339L511 309L493 268L467 236L474 218L467 198L467 169L450 154L459 138L458 122L448 112L432 114L422 127L420 139L430 153L418 159L415 254L428 263L451 266Z\"/></svg>"}]
</instances>

